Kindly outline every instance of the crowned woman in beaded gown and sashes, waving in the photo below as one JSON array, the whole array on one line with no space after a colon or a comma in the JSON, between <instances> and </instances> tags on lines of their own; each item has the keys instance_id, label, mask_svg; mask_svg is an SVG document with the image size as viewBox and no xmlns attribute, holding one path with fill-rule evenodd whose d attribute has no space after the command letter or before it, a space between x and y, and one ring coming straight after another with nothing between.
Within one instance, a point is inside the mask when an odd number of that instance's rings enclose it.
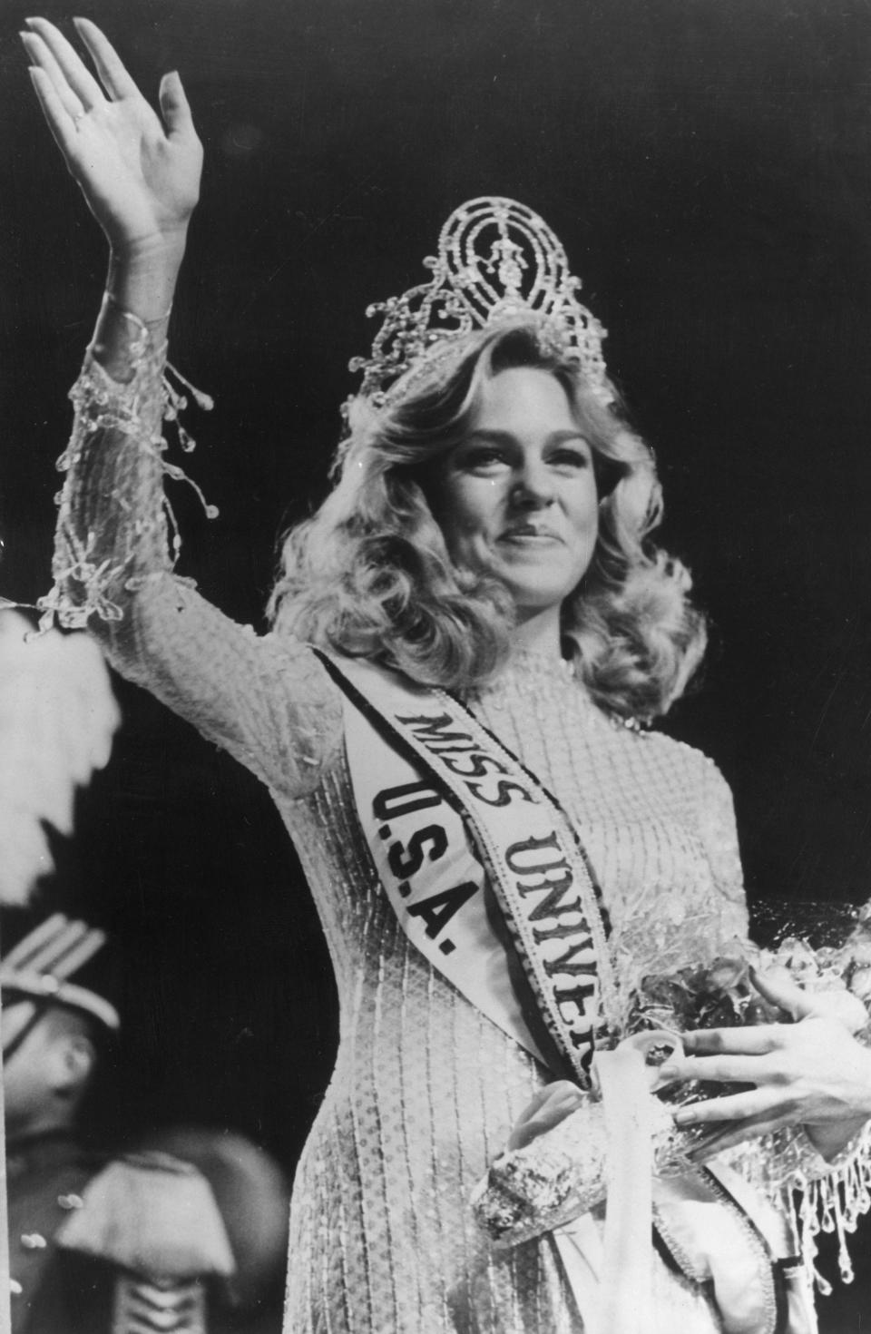
<instances>
[{"instance_id":1,"label":"crowned woman in beaded gown and sashes, waving","mask_svg":"<svg viewBox=\"0 0 871 1334\"><path fill-rule=\"evenodd\" d=\"M295 1183L285 1329L588 1329L595 1274L572 1277L568 1253L595 1270L606 1149L576 1090L639 975L746 932L726 784L638 726L703 647L686 572L647 542L654 462L612 407L602 329L552 233L472 201L432 281L383 307L336 488L287 540L273 632L228 622L173 578L161 492L200 145L176 75L161 121L99 29L76 28L97 79L52 24L24 33L111 245L44 607L268 784L319 903L341 1042ZM808 1122L839 1150L871 1113L864 1053L834 1019L772 1033L783 1059L722 1039L767 1098L763 1121L751 1095L726 1101L735 1134ZM840 1101L828 1067L807 1075L820 1051L854 1062ZM676 1078L710 1059L675 1058ZM512 1126L512 1149L546 1145L579 1101L592 1234L494 1247L475 1183ZM648 1259L646 1314L723 1327L728 1294Z\"/></svg>"}]
</instances>

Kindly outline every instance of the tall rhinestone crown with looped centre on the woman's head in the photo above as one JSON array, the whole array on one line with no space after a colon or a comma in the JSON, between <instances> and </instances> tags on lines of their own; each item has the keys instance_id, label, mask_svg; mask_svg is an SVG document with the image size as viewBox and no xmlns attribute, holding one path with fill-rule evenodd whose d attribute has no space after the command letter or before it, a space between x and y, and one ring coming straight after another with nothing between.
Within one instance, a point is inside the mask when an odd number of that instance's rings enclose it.
<instances>
[{"instance_id":1,"label":"tall rhinestone crown with looped centre on the woman's head","mask_svg":"<svg viewBox=\"0 0 871 1334\"><path fill-rule=\"evenodd\" d=\"M606 331L575 295L563 245L543 217L514 199L483 196L460 204L442 228L439 253L424 259L432 280L375 301L383 313L372 355L355 356L359 395L375 407L395 402L419 375L470 334L535 317L540 338L578 362L594 388L606 386Z\"/></svg>"}]
</instances>

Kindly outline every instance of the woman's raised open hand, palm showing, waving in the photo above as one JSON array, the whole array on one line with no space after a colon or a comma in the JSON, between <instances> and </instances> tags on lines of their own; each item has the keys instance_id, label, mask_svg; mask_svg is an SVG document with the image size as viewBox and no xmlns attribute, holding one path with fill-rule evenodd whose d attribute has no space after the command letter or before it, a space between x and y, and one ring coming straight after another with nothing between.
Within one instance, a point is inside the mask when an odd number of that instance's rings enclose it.
<instances>
[{"instance_id":1,"label":"woman's raised open hand, palm showing, waving","mask_svg":"<svg viewBox=\"0 0 871 1334\"><path fill-rule=\"evenodd\" d=\"M181 80L164 75L159 116L96 24L75 24L97 77L47 19L29 19L21 35L45 120L116 255L171 243L196 207L203 168Z\"/></svg>"}]
</instances>

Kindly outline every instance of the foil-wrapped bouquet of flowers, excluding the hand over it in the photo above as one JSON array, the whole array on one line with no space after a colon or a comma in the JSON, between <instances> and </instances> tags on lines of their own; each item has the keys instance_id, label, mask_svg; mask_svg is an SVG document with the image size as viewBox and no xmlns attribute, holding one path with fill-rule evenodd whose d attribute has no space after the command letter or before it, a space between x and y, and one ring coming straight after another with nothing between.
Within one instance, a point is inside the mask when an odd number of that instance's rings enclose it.
<instances>
[{"instance_id":1,"label":"foil-wrapped bouquet of flowers, excluding the hand over it","mask_svg":"<svg viewBox=\"0 0 871 1334\"><path fill-rule=\"evenodd\" d=\"M800 910L799 928L815 924L812 911ZM795 908L790 912L795 914ZM838 918L840 920L832 926L832 919ZM844 918L848 920L846 930ZM732 940L707 963L639 978L628 991L615 1043L630 1039L642 1050L647 1065L656 1067L680 1045L682 1034L692 1030L790 1022L795 1015L774 1005L754 982L756 975L779 974L806 992L814 992L820 1013L840 1019L871 1045L871 906L848 914L822 908L816 924L826 932L823 944L816 931L786 935L768 948ZM816 939L811 940L811 935ZM831 943L832 936L836 943ZM716 1139L718 1131L706 1125L676 1126L674 1107L735 1094L740 1086L702 1081L662 1083L655 1069L650 1075L655 1097L647 1113L655 1173L658 1177L682 1175L710 1153L716 1153L707 1142ZM547 1133L539 1131L510 1146L479 1183L472 1207L498 1246L516 1245L559 1227L604 1199L608 1130L595 1078L594 1087L580 1097L580 1105L572 1103L574 1110L551 1121ZM527 1109L530 1123L535 1113L534 1102ZM763 1139L747 1141L738 1153L751 1182L780 1191L783 1186L802 1185L799 1177L810 1161L806 1162L800 1147L794 1151L788 1135L778 1133L776 1139L768 1146ZM843 1234L855 1226L858 1214L871 1206L871 1167L866 1171L862 1163L855 1166L852 1161L843 1167L835 1165L819 1182L808 1177L804 1195L799 1218L810 1263L814 1235L820 1226L835 1227ZM842 1251L842 1271L848 1273L844 1247Z\"/></svg>"}]
</instances>

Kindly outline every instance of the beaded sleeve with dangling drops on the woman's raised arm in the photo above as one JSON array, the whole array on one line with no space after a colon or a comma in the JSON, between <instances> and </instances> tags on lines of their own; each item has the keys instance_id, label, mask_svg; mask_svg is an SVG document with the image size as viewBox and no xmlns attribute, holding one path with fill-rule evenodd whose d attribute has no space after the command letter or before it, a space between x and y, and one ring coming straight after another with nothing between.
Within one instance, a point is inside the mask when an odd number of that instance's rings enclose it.
<instances>
[{"instance_id":1,"label":"beaded sleeve with dangling drops on the woman's raised arm","mask_svg":"<svg viewBox=\"0 0 871 1334\"><path fill-rule=\"evenodd\" d=\"M120 384L88 354L71 392L75 424L59 460L65 480L43 619L87 624L123 675L273 791L301 795L339 744L335 687L303 644L237 626L173 574L179 538L163 482L184 474L167 460L164 422L177 422L185 400L165 376L165 348L144 327L131 364ZM179 440L192 447L180 426Z\"/></svg>"}]
</instances>

